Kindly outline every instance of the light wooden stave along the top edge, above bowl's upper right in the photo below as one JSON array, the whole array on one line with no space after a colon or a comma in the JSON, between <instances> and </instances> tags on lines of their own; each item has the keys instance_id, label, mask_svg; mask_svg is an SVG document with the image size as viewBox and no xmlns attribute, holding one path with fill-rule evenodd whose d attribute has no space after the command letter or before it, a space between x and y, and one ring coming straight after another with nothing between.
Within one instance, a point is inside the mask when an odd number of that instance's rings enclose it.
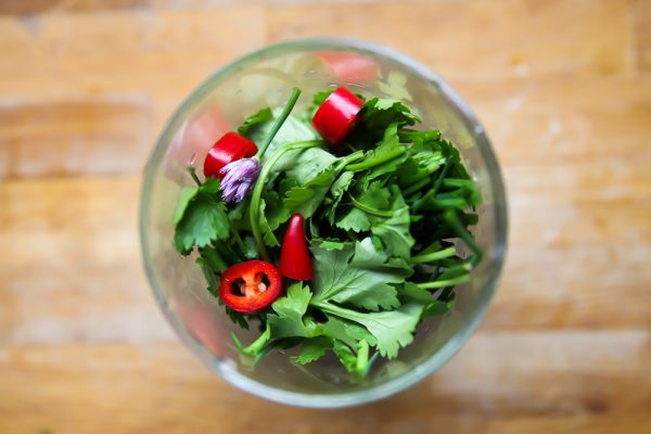
<instances>
[{"instance_id":1,"label":"light wooden stave along the top edge, above bowl's upper right","mask_svg":"<svg viewBox=\"0 0 651 434\"><path fill-rule=\"evenodd\" d=\"M372 25L366 4L270 8L269 34L272 40L324 34L374 40L399 48L452 82L577 71L629 74L635 66L626 2L434 0L407 5L374 5Z\"/></svg>"}]
</instances>

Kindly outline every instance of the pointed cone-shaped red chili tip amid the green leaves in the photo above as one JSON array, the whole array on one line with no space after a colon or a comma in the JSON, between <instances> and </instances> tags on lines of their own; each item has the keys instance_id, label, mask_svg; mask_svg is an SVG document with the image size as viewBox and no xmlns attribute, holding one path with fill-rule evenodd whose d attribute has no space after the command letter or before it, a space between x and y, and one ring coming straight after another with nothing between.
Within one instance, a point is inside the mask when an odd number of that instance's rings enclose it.
<instances>
[{"instance_id":1,"label":"pointed cone-shaped red chili tip amid the green leaves","mask_svg":"<svg viewBox=\"0 0 651 434\"><path fill-rule=\"evenodd\" d=\"M280 273L294 280L311 280L315 277L311 258L305 241L303 216L294 214L282 240Z\"/></svg>"}]
</instances>

